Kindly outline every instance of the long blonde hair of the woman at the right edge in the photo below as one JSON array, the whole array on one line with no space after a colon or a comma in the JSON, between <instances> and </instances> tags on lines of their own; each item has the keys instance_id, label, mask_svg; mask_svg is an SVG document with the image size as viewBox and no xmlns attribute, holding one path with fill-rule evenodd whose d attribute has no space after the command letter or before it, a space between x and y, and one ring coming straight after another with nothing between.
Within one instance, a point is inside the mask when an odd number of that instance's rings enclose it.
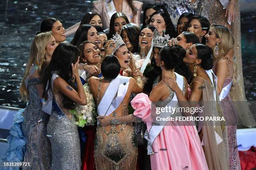
<instances>
[{"instance_id":1,"label":"long blonde hair of the woman at the right edge","mask_svg":"<svg viewBox=\"0 0 256 170\"><path fill-rule=\"evenodd\" d=\"M213 50L213 56L214 60L218 60L221 57L225 56L225 54L228 52L228 50L233 49L235 45L235 38L232 34L232 32L225 26L223 25L217 25L217 24L212 24L210 26L212 31L216 34L217 38L220 38L221 41L218 43L218 55L215 55L215 48ZM238 78L237 75L237 65L236 65L236 60L233 60L233 85L236 84L236 80Z\"/></svg>"}]
</instances>

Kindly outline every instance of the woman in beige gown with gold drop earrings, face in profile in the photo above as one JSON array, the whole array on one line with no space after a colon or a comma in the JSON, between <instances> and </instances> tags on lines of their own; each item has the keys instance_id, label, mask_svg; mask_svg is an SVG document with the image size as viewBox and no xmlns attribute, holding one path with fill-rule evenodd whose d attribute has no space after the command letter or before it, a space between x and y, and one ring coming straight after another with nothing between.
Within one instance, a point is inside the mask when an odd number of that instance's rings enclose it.
<instances>
[{"instance_id":1,"label":"woman in beige gown with gold drop earrings, face in profile","mask_svg":"<svg viewBox=\"0 0 256 170\"><path fill-rule=\"evenodd\" d=\"M213 74L213 71L210 70L213 67L211 48L203 44L192 45L187 51L187 55L184 57L183 61L187 63L194 77L189 85L191 89L189 99L184 97L182 90L180 90L177 82L173 78L163 78L163 81L177 95L180 107L192 108L199 104L202 108L202 112L200 112L199 115L200 117L223 117L223 112L219 109L220 105L215 92L215 82L213 82L217 77ZM184 110L182 115L191 116L192 113ZM228 151L226 148L228 145L227 129L223 118L215 122L206 121L205 119L199 121L198 131L200 132L200 139L204 144L205 158L210 170L229 169ZM217 140L216 133L222 140Z\"/></svg>"}]
</instances>

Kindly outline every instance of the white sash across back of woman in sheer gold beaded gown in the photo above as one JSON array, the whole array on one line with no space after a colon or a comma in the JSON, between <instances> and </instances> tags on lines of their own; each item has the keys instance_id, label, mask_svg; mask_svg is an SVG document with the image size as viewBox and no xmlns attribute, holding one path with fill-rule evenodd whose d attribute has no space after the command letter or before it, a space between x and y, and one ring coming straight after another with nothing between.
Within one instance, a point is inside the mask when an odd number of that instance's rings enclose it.
<instances>
[{"instance_id":1,"label":"white sash across back of woman in sheer gold beaded gown","mask_svg":"<svg viewBox=\"0 0 256 170\"><path fill-rule=\"evenodd\" d=\"M99 116L108 116L118 108L126 95L129 80L130 77L118 75L110 82L97 108Z\"/></svg>"}]
</instances>

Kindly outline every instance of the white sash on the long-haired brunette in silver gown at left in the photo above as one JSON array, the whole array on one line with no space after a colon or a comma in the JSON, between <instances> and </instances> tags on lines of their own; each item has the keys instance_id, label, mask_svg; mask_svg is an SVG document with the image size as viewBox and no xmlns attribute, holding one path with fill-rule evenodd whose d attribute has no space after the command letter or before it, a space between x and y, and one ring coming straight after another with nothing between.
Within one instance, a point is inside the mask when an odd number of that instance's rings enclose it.
<instances>
[{"instance_id":1,"label":"white sash on the long-haired brunette in silver gown at left","mask_svg":"<svg viewBox=\"0 0 256 170\"><path fill-rule=\"evenodd\" d=\"M42 106L42 110L44 112L46 112L48 115L51 115L51 107L52 107L52 100L53 100L53 83L54 83L54 80L59 77L59 75L57 74L52 74L52 77L51 77L51 90L49 89L47 94L48 94L48 99L43 102L43 106ZM48 86L49 86L49 81L47 82L47 85L46 85L46 89L48 89Z\"/></svg>"}]
</instances>

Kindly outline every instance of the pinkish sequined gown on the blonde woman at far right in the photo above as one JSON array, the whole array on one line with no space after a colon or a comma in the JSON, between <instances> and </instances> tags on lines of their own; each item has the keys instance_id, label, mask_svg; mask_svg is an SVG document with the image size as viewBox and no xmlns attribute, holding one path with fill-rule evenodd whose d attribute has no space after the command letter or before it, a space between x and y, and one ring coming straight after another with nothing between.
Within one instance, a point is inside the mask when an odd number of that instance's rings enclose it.
<instances>
[{"instance_id":1,"label":"pinkish sequined gown on the blonde woman at far right","mask_svg":"<svg viewBox=\"0 0 256 170\"><path fill-rule=\"evenodd\" d=\"M212 70L215 72L215 67L213 67ZM224 81L223 88L226 87L231 81L232 78L226 78ZM223 100L221 100L220 107L223 110L223 114L228 129L230 170L241 170L238 148L236 147L236 125L238 114L229 94Z\"/></svg>"}]
</instances>

